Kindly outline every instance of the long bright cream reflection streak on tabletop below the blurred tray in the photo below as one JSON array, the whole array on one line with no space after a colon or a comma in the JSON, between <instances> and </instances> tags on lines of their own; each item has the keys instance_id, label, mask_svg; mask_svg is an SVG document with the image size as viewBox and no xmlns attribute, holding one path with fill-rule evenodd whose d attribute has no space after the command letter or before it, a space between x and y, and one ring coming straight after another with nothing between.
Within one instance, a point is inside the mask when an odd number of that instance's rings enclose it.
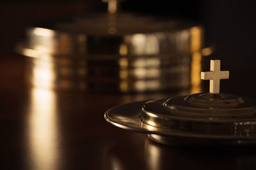
<instances>
[{"instance_id":1,"label":"long bright cream reflection streak on tabletop below the blurred tray","mask_svg":"<svg viewBox=\"0 0 256 170\"><path fill-rule=\"evenodd\" d=\"M58 165L56 96L43 89L31 89L29 116L29 155L32 169L54 170Z\"/></svg>"}]
</instances>

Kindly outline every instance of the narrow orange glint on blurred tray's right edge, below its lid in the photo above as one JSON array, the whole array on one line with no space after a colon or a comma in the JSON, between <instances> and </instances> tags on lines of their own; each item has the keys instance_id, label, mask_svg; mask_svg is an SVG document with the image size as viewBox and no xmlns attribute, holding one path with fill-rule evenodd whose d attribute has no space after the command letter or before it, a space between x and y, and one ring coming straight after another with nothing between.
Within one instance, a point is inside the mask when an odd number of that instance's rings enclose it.
<instances>
[{"instance_id":1,"label":"narrow orange glint on blurred tray's right edge, below its lid","mask_svg":"<svg viewBox=\"0 0 256 170\"><path fill-rule=\"evenodd\" d=\"M191 58L191 94L202 92L200 73L201 73L202 55L199 52L192 54Z\"/></svg>"}]
</instances>

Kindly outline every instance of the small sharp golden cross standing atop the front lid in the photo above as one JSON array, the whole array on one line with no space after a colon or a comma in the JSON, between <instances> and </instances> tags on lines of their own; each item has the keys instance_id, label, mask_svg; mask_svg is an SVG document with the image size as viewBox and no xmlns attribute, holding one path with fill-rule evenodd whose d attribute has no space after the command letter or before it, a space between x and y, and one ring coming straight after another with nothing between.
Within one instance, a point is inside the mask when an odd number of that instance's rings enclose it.
<instances>
[{"instance_id":1,"label":"small sharp golden cross standing atop the front lid","mask_svg":"<svg viewBox=\"0 0 256 170\"><path fill-rule=\"evenodd\" d=\"M220 93L220 80L228 79L229 71L220 71L220 60L211 60L211 69L207 72L201 72L202 80L210 80L210 93Z\"/></svg>"}]
</instances>

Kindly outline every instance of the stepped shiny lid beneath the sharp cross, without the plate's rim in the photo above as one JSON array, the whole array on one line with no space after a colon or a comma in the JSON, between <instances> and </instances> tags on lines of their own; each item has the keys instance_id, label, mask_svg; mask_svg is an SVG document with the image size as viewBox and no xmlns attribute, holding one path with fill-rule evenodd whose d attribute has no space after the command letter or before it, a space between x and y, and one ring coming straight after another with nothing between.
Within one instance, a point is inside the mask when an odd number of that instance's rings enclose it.
<instances>
[{"instance_id":1,"label":"stepped shiny lid beneath the sharp cross, without the plate's rim","mask_svg":"<svg viewBox=\"0 0 256 170\"><path fill-rule=\"evenodd\" d=\"M256 101L231 94L193 94L145 103L141 122L199 136L256 136Z\"/></svg>"}]
</instances>

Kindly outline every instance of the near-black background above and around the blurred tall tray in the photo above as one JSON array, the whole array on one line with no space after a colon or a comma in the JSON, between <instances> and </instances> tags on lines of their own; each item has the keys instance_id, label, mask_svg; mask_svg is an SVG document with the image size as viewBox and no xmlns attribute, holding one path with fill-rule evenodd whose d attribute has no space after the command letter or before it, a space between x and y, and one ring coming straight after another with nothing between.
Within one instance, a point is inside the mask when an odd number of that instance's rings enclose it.
<instances>
[{"instance_id":1,"label":"near-black background above and around the blurred tall tray","mask_svg":"<svg viewBox=\"0 0 256 170\"><path fill-rule=\"evenodd\" d=\"M8 60L21 60L13 52L15 43L24 36L30 24L40 20L58 20L95 11L106 11L101 1L1 1L1 71L10 74ZM213 46L214 53L205 57L203 71L209 69L210 59L221 59L221 69L230 70L230 80L221 81L222 92L255 97L255 5L253 1L136 1L121 4L123 11L170 18L187 18L205 27L205 46ZM3 62L5 64L3 64ZM19 62L17 62L19 66ZM7 69L7 70L6 70ZM22 77L22 73L15 74ZM2 82L3 83L3 82ZM230 89L230 86L236 86Z\"/></svg>"}]
</instances>

